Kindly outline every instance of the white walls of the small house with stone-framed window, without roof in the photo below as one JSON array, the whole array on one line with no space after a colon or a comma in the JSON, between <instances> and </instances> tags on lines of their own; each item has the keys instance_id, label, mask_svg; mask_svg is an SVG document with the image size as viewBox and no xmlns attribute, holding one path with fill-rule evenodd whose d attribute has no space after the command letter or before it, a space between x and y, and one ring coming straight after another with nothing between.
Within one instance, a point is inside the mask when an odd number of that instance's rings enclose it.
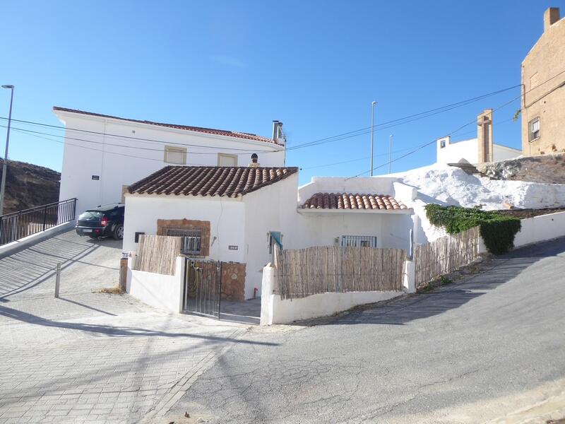
<instances>
[{"instance_id":1,"label":"white walls of the small house with stone-framed window, without roof","mask_svg":"<svg viewBox=\"0 0 565 424\"><path fill-rule=\"evenodd\" d=\"M246 264L245 298L261 294L263 266L271 260L269 231L290 234L295 225L298 175L237 199L220 196L126 194L124 252L136 251L135 233L157 233L157 219L210 221L207 259ZM237 246L237 250L229 249Z\"/></svg>"}]
</instances>

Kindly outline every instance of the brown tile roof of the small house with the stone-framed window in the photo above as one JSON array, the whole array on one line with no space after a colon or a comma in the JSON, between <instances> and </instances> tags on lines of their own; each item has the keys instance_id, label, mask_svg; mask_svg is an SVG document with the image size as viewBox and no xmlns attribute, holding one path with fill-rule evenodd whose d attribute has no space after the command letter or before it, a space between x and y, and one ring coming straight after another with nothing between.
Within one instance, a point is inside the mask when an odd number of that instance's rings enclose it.
<instances>
[{"instance_id":1,"label":"brown tile roof of the small house with the stone-framed window","mask_svg":"<svg viewBox=\"0 0 565 424\"><path fill-rule=\"evenodd\" d=\"M285 179L297 167L166 166L131 184L137 194L237 197Z\"/></svg>"}]
</instances>

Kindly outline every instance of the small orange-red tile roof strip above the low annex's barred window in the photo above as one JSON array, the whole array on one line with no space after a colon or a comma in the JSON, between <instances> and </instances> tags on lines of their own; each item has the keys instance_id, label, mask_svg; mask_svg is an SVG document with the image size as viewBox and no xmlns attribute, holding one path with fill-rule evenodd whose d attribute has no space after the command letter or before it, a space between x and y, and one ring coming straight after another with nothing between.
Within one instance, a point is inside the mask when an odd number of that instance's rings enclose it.
<instances>
[{"instance_id":1,"label":"small orange-red tile roof strip above the low annex's barred window","mask_svg":"<svg viewBox=\"0 0 565 424\"><path fill-rule=\"evenodd\" d=\"M408 209L393 196L379 194L316 193L304 202L303 209Z\"/></svg>"}]
</instances>

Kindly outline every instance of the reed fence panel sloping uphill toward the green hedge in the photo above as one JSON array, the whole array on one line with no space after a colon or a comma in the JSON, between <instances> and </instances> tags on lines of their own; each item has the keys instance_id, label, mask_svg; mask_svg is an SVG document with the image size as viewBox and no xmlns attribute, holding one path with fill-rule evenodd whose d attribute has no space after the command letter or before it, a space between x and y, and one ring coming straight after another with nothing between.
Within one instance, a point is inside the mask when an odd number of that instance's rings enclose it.
<instances>
[{"instance_id":1,"label":"reed fence panel sloping uphill toward the green hedge","mask_svg":"<svg viewBox=\"0 0 565 424\"><path fill-rule=\"evenodd\" d=\"M479 227L416 245L416 286L471 264L479 257Z\"/></svg>"}]
</instances>

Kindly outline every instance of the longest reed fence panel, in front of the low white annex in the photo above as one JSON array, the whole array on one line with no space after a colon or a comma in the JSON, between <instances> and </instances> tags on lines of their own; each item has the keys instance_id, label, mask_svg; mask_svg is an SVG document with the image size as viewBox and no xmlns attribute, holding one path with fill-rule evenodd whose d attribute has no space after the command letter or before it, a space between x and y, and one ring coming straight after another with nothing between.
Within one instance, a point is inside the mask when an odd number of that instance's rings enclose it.
<instances>
[{"instance_id":1,"label":"longest reed fence panel, in front of the low white annex","mask_svg":"<svg viewBox=\"0 0 565 424\"><path fill-rule=\"evenodd\" d=\"M403 249L334 246L277 249L275 292L286 299L317 293L402 290L405 260Z\"/></svg>"}]
</instances>

